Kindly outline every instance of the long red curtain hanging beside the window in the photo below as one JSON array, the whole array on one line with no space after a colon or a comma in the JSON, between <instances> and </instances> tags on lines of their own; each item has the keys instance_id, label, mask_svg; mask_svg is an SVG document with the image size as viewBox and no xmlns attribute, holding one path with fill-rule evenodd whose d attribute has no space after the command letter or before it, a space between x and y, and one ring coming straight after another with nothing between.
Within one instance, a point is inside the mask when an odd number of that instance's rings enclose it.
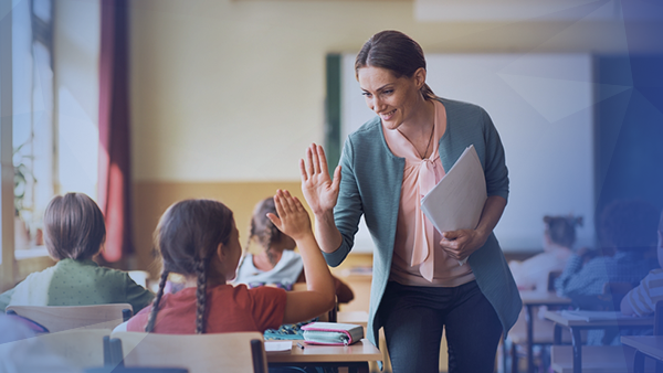
<instances>
[{"instance_id":1,"label":"long red curtain hanging beside the window","mask_svg":"<svg viewBox=\"0 0 663 373\"><path fill-rule=\"evenodd\" d=\"M98 202L106 217L106 262L133 253L126 0L102 0Z\"/></svg>"}]
</instances>

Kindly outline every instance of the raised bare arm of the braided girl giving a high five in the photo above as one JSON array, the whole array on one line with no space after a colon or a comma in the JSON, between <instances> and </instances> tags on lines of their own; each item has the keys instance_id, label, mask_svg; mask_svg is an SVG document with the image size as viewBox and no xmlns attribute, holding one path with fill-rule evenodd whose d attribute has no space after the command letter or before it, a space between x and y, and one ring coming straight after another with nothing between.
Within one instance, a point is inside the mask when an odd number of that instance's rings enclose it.
<instances>
[{"instance_id":1,"label":"raised bare arm of the braided girl giving a high five","mask_svg":"<svg viewBox=\"0 0 663 373\"><path fill-rule=\"evenodd\" d=\"M334 279L315 241L311 219L302 202L288 191L278 190L274 196L274 204L278 216L267 214L267 217L281 232L295 241L304 262L308 290L288 291L283 316L283 323L294 323L312 319L334 308Z\"/></svg>"}]
</instances>

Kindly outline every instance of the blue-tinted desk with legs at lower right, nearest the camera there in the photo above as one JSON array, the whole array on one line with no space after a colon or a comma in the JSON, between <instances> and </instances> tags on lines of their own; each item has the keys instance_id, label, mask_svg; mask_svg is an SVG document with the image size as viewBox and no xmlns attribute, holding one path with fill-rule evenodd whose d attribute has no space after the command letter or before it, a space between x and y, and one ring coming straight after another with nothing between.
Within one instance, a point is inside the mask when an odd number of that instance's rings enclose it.
<instances>
[{"instance_id":1,"label":"blue-tinted desk with legs at lower right, nearest the camera there","mask_svg":"<svg viewBox=\"0 0 663 373\"><path fill-rule=\"evenodd\" d=\"M582 340L580 331L587 329L603 329L607 327L653 327L654 318L614 318L602 320L579 320L569 316L562 315L559 311L547 311L546 319L555 322L555 344L561 343L560 327L571 330L571 345L573 350L573 373L582 372Z\"/></svg>"}]
</instances>

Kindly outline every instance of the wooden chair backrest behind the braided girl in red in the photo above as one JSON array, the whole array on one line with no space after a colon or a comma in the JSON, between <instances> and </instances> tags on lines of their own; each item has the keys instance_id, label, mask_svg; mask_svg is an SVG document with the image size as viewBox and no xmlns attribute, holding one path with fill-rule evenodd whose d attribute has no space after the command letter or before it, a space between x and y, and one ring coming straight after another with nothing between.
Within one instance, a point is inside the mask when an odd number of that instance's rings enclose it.
<instances>
[{"instance_id":1,"label":"wooden chair backrest behind the braided girl in red","mask_svg":"<svg viewBox=\"0 0 663 373\"><path fill-rule=\"evenodd\" d=\"M263 335L259 332L158 334L115 332L125 366L185 367L190 373L267 372Z\"/></svg>"}]
</instances>

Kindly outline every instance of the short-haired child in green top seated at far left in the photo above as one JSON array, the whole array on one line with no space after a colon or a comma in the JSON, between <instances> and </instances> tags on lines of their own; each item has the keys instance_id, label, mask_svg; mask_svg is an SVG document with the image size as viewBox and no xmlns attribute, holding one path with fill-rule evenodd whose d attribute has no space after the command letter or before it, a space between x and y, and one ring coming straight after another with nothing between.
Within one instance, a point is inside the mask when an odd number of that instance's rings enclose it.
<instances>
[{"instance_id":1,"label":"short-haired child in green top seated at far left","mask_svg":"<svg viewBox=\"0 0 663 373\"><path fill-rule=\"evenodd\" d=\"M104 215L90 196L67 193L53 198L44 212L44 241L57 263L0 295L0 309L11 305L105 303L129 303L134 312L145 308L155 297L151 291L127 273L99 267L92 260L105 238Z\"/></svg>"}]
</instances>

